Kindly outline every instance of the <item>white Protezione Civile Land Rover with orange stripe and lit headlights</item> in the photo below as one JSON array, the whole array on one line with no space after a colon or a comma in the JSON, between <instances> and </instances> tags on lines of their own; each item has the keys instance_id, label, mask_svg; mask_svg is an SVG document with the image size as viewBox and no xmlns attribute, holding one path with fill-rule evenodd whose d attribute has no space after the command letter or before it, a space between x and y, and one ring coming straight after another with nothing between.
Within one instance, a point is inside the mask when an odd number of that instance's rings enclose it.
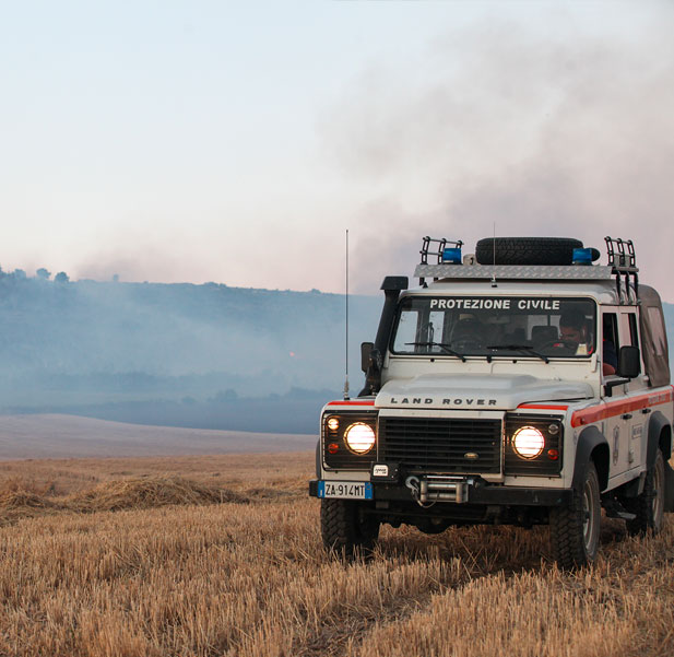
<instances>
[{"instance_id":1,"label":"white Protezione Civile Land Rover with orange stripe and lit headlights","mask_svg":"<svg viewBox=\"0 0 674 657\"><path fill-rule=\"evenodd\" d=\"M563 567L591 562L601 507L630 532L674 511L673 389L658 293L631 240L608 262L576 239L424 238L387 277L366 385L322 410L326 547L369 550L381 523L549 525ZM429 259L433 261L429 262ZM437 261L436 261L437 259Z\"/></svg>"}]
</instances>

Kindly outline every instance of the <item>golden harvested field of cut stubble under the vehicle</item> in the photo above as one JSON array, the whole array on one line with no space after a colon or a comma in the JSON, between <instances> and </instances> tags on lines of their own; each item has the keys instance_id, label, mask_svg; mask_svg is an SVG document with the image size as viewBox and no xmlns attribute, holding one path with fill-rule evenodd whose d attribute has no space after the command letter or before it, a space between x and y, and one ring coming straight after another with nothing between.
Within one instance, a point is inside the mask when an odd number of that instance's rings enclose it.
<instances>
[{"instance_id":1,"label":"golden harvested field of cut stubble under the vehicle","mask_svg":"<svg viewBox=\"0 0 674 657\"><path fill-rule=\"evenodd\" d=\"M560 573L544 529L382 531L323 552L312 454L0 464L0 655L674 654L674 521L606 521Z\"/></svg>"}]
</instances>

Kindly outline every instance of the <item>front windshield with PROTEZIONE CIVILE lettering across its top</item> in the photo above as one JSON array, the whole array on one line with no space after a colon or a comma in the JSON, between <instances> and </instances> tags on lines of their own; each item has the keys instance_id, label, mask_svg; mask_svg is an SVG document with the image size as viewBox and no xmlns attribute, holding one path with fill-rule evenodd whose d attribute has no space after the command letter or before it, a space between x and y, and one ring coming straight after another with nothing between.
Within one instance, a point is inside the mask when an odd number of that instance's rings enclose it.
<instances>
[{"instance_id":1,"label":"front windshield with PROTEZIONE CIVILE lettering across its top","mask_svg":"<svg viewBox=\"0 0 674 657\"><path fill-rule=\"evenodd\" d=\"M589 298L406 296L391 350L460 357L588 357L595 349L596 304Z\"/></svg>"}]
</instances>

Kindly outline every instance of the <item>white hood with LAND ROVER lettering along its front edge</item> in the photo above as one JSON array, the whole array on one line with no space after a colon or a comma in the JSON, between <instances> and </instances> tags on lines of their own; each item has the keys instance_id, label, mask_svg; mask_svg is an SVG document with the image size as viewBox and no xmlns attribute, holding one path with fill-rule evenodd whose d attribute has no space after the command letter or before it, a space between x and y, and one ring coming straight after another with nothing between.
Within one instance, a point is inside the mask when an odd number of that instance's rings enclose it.
<instances>
[{"instance_id":1,"label":"white hood with LAND ROVER lettering along its front edge","mask_svg":"<svg viewBox=\"0 0 674 657\"><path fill-rule=\"evenodd\" d=\"M512 410L528 402L593 397L580 382L508 374L425 374L388 382L377 395L379 408Z\"/></svg>"}]
</instances>

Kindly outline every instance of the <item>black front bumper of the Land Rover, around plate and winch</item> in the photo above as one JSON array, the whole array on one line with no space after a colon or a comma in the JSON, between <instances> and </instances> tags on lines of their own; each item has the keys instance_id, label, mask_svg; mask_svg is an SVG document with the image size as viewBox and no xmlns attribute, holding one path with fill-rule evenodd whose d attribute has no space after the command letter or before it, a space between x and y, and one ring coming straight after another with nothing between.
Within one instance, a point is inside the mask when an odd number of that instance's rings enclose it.
<instances>
[{"instance_id":1,"label":"black front bumper of the Land Rover, around plate and winch","mask_svg":"<svg viewBox=\"0 0 674 657\"><path fill-rule=\"evenodd\" d=\"M318 497L318 479L309 481L309 495ZM369 482L368 482L369 483ZM571 489L534 489L516 488L487 483L481 479L470 478L462 482L461 503L489 506L566 506L572 501ZM373 500L415 502L412 490L402 483L373 482ZM447 504L447 501L440 500ZM457 502L449 502L457 504Z\"/></svg>"}]
</instances>

